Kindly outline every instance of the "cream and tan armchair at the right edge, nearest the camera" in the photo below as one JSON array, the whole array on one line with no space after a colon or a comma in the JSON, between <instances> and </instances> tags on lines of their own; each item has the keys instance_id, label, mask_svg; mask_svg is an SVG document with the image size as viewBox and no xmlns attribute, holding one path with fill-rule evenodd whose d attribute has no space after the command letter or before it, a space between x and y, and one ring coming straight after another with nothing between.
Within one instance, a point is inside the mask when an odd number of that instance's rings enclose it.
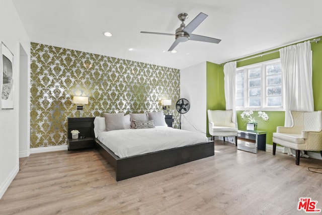
<instances>
[{"instance_id":1,"label":"cream and tan armchair at the right edge, nearest the camera","mask_svg":"<svg viewBox=\"0 0 322 215\"><path fill-rule=\"evenodd\" d=\"M276 144L295 150L295 164L300 163L300 151L320 151L322 156L322 111L291 111L292 127L277 127L273 133L273 155Z\"/></svg>"}]
</instances>

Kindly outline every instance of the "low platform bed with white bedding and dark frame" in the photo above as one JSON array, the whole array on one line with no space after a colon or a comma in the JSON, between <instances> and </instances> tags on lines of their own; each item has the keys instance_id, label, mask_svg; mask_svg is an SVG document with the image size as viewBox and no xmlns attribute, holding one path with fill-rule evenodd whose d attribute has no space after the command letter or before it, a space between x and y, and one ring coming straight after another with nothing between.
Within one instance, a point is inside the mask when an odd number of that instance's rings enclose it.
<instances>
[{"instance_id":1,"label":"low platform bed with white bedding and dark frame","mask_svg":"<svg viewBox=\"0 0 322 215\"><path fill-rule=\"evenodd\" d=\"M96 117L94 120L95 145L115 168L116 181L214 155L214 142L201 133L167 126L106 131L103 119ZM191 141L182 141L182 136Z\"/></svg>"}]
</instances>

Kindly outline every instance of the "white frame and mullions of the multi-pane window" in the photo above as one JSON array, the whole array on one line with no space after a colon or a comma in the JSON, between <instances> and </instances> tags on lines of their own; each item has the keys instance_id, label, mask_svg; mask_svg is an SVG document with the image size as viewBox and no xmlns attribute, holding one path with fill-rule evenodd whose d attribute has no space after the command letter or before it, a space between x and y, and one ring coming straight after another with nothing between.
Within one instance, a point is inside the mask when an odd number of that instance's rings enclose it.
<instances>
[{"instance_id":1,"label":"white frame and mullions of the multi-pane window","mask_svg":"<svg viewBox=\"0 0 322 215\"><path fill-rule=\"evenodd\" d=\"M274 106L274 107L268 107L266 104L267 101L267 74L266 74L266 67L267 65L270 64L275 64L275 63L281 63L281 59L274 59L274 60L267 60L267 61L263 61L263 62L259 62L259 63L254 63L254 64L250 64L250 65L246 65L246 66L241 66L236 68L236 71L240 71L243 70L244 71L244 107L242 106L236 106L236 110L245 110L245 109L251 109L251 110L257 110L257 111L284 111L284 93L283 93L283 76L281 74L281 89L282 89L282 93L281 93L281 106ZM251 68L255 68L255 67L261 67L262 68L262 98L261 98L261 106L257 106L257 107L250 107L249 106L249 88L248 88L248 84L249 84L249 74L248 74L248 70ZM237 83L237 82L236 82ZM236 92L237 92L237 87L236 87ZM236 93L235 92L235 93Z\"/></svg>"}]
</instances>

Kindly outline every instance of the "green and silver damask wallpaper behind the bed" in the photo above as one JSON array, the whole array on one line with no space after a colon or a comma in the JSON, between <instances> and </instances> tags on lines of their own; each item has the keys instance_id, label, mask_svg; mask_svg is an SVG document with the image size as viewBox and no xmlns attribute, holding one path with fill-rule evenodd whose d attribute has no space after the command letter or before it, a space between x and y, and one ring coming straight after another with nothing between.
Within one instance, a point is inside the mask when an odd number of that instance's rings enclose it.
<instances>
[{"instance_id":1,"label":"green and silver damask wallpaper behind the bed","mask_svg":"<svg viewBox=\"0 0 322 215\"><path fill-rule=\"evenodd\" d=\"M78 117L74 95L89 96L82 116L160 111L160 100L171 99L178 127L179 69L38 43L30 67L31 148L66 144L67 117Z\"/></svg>"}]
</instances>

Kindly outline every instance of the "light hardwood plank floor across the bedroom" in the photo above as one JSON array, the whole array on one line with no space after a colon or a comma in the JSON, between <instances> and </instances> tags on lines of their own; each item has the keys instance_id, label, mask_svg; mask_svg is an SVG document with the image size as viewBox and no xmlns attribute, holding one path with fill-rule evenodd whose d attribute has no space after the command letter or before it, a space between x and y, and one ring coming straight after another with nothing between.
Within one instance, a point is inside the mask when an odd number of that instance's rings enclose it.
<instances>
[{"instance_id":1,"label":"light hardwood plank floor across the bedroom","mask_svg":"<svg viewBox=\"0 0 322 215\"><path fill-rule=\"evenodd\" d=\"M216 141L215 156L115 181L96 150L32 154L0 200L0 214L305 214L322 209L322 161L237 150Z\"/></svg>"}]
</instances>

